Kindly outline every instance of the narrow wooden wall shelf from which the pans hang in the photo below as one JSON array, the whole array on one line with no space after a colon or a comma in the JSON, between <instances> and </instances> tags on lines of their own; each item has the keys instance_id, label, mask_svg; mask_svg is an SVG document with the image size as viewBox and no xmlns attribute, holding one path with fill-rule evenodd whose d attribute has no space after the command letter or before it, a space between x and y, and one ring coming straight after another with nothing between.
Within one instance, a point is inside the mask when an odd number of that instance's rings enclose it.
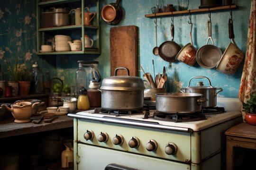
<instances>
[{"instance_id":1,"label":"narrow wooden wall shelf from which the pans hang","mask_svg":"<svg viewBox=\"0 0 256 170\"><path fill-rule=\"evenodd\" d=\"M162 12L156 14L146 14L145 17L170 17L173 15L182 15L182 14L190 14L190 13L202 13L202 12L209 12L209 11L218 11L218 10L229 10L229 9L238 9L237 5L231 6L221 6L215 8L201 8L201 9L190 9L190 10L183 10L183 11L174 11L174 12Z\"/></svg>"}]
</instances>

